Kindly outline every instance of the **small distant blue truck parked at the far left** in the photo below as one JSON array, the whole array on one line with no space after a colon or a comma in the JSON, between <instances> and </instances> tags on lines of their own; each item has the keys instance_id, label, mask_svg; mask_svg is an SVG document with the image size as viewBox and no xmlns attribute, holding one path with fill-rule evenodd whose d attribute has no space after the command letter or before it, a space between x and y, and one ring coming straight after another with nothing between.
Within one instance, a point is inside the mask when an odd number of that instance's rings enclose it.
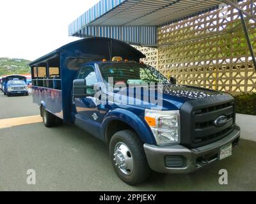
<instances>
[{"instance_id":1,"label":"small distant blue truck parked at the far left","mask_svg":"<svg viewBox=\"0 0 256 204\"><path fill-rule=\"evenodd\" d=\"M14 96L22 94L28 96L28 85L26 84L26 77L22 75L9 75L3 80L4 95Z\"/></svg>"}]
</instances>

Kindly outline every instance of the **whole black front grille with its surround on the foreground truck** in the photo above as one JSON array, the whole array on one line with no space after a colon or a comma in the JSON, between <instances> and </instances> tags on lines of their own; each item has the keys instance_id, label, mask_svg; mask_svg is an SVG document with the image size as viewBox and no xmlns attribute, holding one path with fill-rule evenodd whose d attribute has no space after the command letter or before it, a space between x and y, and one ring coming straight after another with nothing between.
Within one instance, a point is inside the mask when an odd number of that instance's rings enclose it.
<instances>
[{"instance_id":1,"label":"whole black front grille with its surround on the foreground truck","mask_svg":"<svg viewBox=\"0 0 256 204\"><path fill-rule=\"evenodd\" d=\"M214 120L222 115L227 122L217 127ZM187 101L180 108L180 143L196 148L216 142L234 130L235 122L234 98L228 94Z\"/></svg>"}]
</instances>

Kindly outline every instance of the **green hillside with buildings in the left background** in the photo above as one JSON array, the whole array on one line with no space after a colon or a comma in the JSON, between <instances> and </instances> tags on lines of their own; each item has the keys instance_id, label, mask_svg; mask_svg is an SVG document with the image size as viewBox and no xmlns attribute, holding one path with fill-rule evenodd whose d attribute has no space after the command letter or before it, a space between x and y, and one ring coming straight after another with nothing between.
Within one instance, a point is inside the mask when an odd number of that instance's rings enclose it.
<instances>
[{"instance_id":1,"label":"green hillside with buildings in the left background","mask_svg":"<svg viewBox=\"0 0 256 204\"><path fill-rule=\"evenodd\" d=\"M29 60L0 57L0 76L30 73Z\"/></svg>"}]
</instances>

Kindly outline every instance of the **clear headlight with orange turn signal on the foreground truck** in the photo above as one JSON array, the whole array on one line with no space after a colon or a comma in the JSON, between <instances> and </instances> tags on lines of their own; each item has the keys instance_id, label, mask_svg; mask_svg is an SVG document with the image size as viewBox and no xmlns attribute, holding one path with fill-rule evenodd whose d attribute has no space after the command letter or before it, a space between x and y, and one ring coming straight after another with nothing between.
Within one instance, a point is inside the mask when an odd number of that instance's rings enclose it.
<instances>
[{"instance_id":1,"label":"clear headlight with orange turn signal on the foreground truck","mask_svg":"<svg viewBox=\"0 0 256 204\"><path fill-rule=\"evenodd\" d=\"M180 142L179 110L145 110L145 120L156 138L157 145Z\"/></svg>"}]
</instances>

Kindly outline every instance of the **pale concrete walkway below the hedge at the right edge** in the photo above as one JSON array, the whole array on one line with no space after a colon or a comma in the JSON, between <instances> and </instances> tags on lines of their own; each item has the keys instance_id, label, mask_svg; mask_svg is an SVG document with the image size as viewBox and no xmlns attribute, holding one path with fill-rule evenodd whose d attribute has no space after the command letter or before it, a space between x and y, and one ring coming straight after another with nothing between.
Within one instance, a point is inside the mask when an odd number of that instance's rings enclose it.
<instances>
[{"instance_id":1,"label":"pale concrete walkway below the hedge at the right edge","mask_svg":"<svg viewBox=\"0 0 256 204\"><path fill-rule=\"evenodd\" d=\"M237 113L236 123L241 128L241 138L256 142L256 115Z\"/></svg>"}]
</instances>

